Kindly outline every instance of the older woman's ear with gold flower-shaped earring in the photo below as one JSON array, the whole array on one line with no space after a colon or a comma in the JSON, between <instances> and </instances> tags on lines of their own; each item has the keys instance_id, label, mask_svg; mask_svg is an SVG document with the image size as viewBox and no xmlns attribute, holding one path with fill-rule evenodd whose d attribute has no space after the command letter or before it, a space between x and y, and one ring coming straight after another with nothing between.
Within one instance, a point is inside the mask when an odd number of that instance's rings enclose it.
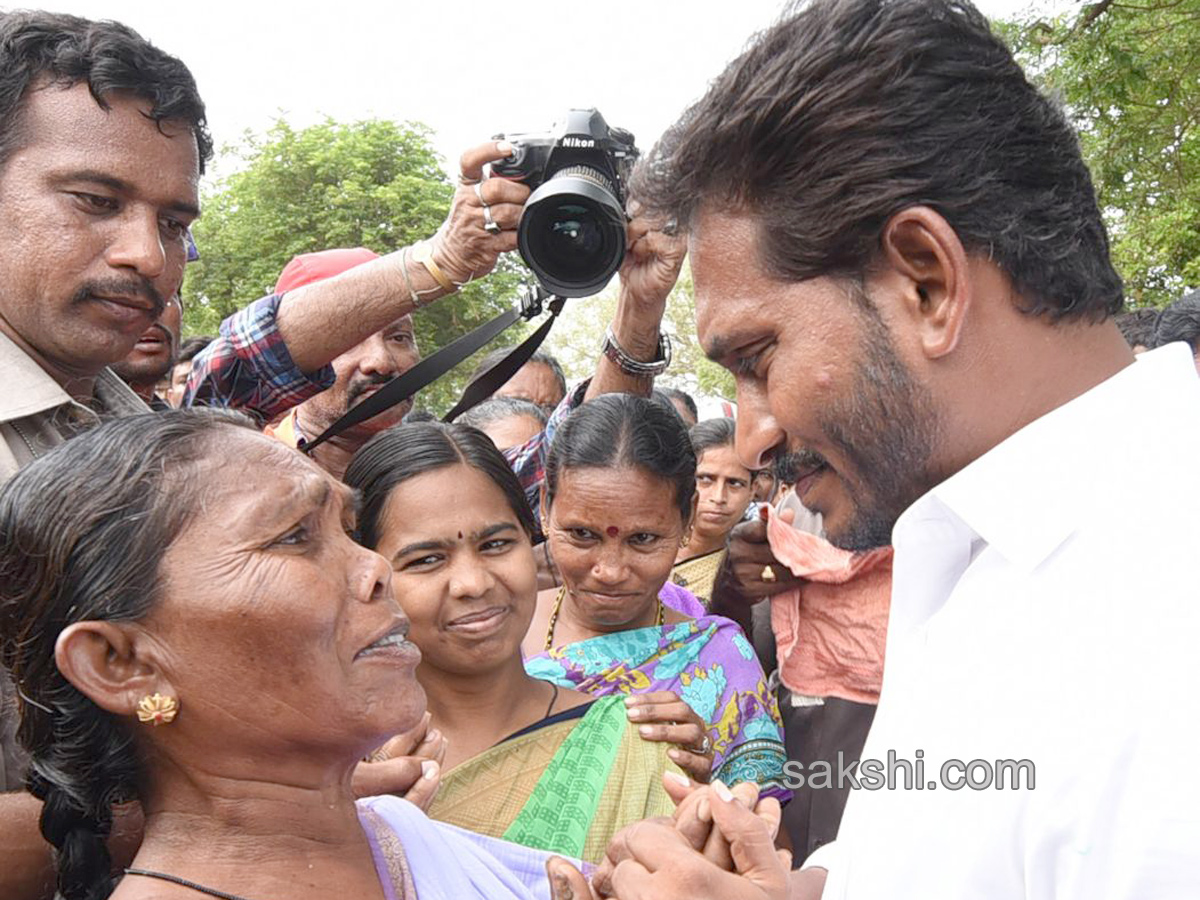
<instances>
[{"instance_id":1,"label":"older woman's ear with gold flower-shaped earring","mask_svg":"<svg viewBox=\"0 0 1200 900\"><path fill-rule=\"evenodd\" d=\"M138 653L127 625L77 622L54 643L54 661L71 684L109 713L132 716L150 694L173 696L152 660Z\"/></svg>"}]
</instances>

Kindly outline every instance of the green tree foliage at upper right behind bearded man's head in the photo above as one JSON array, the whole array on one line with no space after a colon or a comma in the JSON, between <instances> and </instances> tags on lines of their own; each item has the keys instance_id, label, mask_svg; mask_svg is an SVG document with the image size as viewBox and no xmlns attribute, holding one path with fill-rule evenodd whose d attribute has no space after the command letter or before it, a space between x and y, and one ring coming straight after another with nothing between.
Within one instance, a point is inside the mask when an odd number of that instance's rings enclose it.
<instances>
[{"instance_id":1,"label":"green tree foliage at upper right behind bearded man's head","mask_svg":"<svg viewBox=\"0 0 1200 900\"><path fill-rule=\"evenodd\" d=\"M1072 114L1130 302L1200 284L1200 2L1034 7L1002 30Z\"/></svg>"}]
</instances>

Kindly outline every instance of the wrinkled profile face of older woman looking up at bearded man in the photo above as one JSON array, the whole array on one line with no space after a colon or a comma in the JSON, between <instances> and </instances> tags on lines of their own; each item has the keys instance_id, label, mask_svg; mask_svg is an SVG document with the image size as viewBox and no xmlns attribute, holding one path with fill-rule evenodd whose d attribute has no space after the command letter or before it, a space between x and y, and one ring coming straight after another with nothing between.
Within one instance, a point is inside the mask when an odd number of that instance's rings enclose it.
<instances>
[{"instance_id":1,"label":"wrinkled profile face of older woman looking up at bearded man","mask_svg":"<svg viewBox=\"0 0 1200 900\"><path fill-rule=\"evenodd\" d=\"M222 431L180 472L200 502L142 623L180 698L172 728L198 730L212 758L353 761L425 712L390 571L350 538L349 488L270 438Z\"/></svg>"}]
</instances>

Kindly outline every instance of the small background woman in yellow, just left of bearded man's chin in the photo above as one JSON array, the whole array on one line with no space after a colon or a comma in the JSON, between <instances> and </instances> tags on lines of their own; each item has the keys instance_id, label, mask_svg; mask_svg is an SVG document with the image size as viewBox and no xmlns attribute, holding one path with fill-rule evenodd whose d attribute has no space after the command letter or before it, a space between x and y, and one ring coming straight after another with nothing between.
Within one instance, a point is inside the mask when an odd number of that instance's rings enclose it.
<instances>
[{"instance_id":1,"label":"small background woman in yellow, just left of bearded man's chin","mask_svg":"<svg viewBox=\"0 0 1200 900\"><path fill-rule=\"evenodd\" d=\"M688 431L696 454L696 518L688 544L676 556L671 581L688 588L706 608L725 558L725 540L754 496L755 473L738 460L736 431L732 419L706 419Z\"/></svg>"}]
</instances>

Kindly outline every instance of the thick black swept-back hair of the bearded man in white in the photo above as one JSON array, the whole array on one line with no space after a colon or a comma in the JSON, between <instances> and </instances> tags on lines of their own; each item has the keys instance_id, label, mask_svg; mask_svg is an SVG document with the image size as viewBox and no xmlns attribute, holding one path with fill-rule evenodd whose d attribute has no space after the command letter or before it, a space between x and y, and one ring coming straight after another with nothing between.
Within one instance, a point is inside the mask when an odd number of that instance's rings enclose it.
<instances>
[{"instance_id":1,"label":"thick black swept-back hair of the bearded man in white","mask_svg":"<svg viewBox=\"0 0 1200 900\"><path fill-rule=\"evenodd\" d=\"M752 216L772 275L862 283L884 224L925 205L996 263L1024 308L1122 305L1063 110L967 0L815 0L785 13L643 160L632 193L688 227Z\"/></svg>"}]
</instances>

